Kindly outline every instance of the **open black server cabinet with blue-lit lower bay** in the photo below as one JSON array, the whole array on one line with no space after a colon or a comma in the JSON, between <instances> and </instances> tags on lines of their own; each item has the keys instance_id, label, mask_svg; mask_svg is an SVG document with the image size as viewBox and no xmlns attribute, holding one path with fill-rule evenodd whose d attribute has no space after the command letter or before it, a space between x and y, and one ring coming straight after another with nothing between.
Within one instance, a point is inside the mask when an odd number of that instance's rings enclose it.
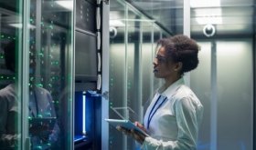
<instances>
[{"instance_id":1,"label":"open black server cabinet with blue-lit lower bay","mask_svg":"<svg viewBox=\"0 0 256 150\"><path fill-rule=\"evenodd\" d=\"M101 149L101 1L76 0L75 149ZM96 98L98 97L98 98Z\"/></svg>"}]
</instances>

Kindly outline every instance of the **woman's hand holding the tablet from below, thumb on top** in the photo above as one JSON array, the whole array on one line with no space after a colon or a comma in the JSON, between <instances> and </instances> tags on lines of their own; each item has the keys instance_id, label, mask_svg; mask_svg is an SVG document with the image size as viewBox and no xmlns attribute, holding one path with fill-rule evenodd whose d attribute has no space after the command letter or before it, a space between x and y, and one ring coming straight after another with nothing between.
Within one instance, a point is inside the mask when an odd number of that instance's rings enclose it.
<instances>
[{"instance_id":1,"label":"woman's hand holding the tablet from below, thumb on top","mask_svg":"<svg viewBox=\"0 0 256 150\"><path fill-rule=\"evenodd\" d=\"M141 128L142 130L145 131L144 125L141 125L141 124L138 123L138 122L135 122L134 124L135 124L136 126L138 126L139 128ZM133 137L138 143L140 143L141 145L144 143L144 138L146 137L146 135L144 135L143 133L141 133L141 132L139 132L139 131L137 131L137 130L134 130L134 129L129 130L129 129L123 127L123 126L116 126L116 129L117 129L118 131L123 132L123 134L125 134L125 135L130 135L130 136L132 136L132 137Z\"/></svg>"}]
</instances>

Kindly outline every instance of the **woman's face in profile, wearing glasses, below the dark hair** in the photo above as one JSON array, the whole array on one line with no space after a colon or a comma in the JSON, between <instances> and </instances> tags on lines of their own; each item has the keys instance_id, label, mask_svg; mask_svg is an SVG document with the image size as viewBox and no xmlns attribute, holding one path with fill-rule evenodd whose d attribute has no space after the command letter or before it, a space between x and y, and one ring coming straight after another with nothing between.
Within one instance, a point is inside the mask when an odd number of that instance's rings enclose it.
<instances>
[{"instance_id":1,"label":"woman's face in profile, wearing glasses, below the dark hair","mask_svg":"<svg viewBox=\"0 0 256 150\"><path fill-rule=\"evenodd\" d=\"M156 52L154 65L154 74L157 78L169 78L176 75L176 63L167 60L165 48L160 47Z\"/></svg>"}]
</instances>

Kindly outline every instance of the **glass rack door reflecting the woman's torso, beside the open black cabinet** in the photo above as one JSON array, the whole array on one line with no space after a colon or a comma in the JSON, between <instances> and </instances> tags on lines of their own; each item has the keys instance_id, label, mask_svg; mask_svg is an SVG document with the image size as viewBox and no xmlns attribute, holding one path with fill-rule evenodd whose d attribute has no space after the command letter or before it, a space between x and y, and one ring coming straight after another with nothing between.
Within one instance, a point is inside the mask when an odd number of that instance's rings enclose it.
<instances>
[{"instance_id":1,"label":"glass rack door reflecting the woman's torso, beside the open black cabinet","mask_svg":"<svg viewBox=\"0 0 256 150\"><path fill-rule=\"evenodd\" d=\"M31 149L71 149L73 0L27 2L27 105Z\"/></svg>"}]
</instances>

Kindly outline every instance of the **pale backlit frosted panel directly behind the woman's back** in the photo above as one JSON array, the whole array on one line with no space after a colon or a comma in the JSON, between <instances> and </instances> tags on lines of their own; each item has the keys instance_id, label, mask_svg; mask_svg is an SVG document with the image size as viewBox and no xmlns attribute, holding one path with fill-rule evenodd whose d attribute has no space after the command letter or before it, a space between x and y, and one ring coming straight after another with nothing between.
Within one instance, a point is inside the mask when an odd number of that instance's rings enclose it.
<instances>
[{"instance_id":1,"label":"pale backlit frosted panel directly behind the woman's back","mask_svg":"<svg viewBox=\"0 0 256 150\"><path fill-rule=\"evenodd\" d=\"M204 105L199 150L253 149L252 40L199 40L191 88ZM201 84L203 81L203 84Z\"/></svg>"}]
</instances>

